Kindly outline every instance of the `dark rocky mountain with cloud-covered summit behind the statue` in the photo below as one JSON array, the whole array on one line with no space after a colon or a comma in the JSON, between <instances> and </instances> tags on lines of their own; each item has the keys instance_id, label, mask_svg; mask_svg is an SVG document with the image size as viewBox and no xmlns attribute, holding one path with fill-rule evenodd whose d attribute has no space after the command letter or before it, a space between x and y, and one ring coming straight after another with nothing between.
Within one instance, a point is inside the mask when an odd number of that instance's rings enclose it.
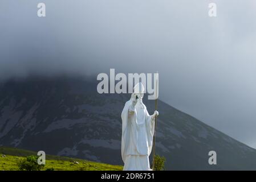
<instances>
[{"instance_id":1,"label":"dark rocky mountain with cloud-covered summit behind the statue","mask_svg":"<svg viewBox=\"0 0 256 182\"><path fill-rule=\"evenodd\" d=\"M115 165L130 94L99 94L96 78L29 77L0 85L0 145ZM144 98L149 113L155 101ZM196 104L196 103L195 103ZM168 170L255 170L256 150L159 101L156 154ZM217 164L209 165L209 151Z\"/></svg>"}]
</instances>

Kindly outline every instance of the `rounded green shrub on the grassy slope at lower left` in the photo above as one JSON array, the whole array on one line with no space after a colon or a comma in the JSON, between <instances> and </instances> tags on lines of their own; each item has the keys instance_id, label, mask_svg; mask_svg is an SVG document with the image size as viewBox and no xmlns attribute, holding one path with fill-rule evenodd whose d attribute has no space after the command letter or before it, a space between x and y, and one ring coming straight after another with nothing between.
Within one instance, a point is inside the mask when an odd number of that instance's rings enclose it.
<instances>
[{"instance_id":1,"label":"rounded green shrub on the grassy slope at lower left","mask_svg":"<svg viewBox=\"0 0 256 182\"><path fill-rule=\"evenodd\" d=\"M26 159L22 159L18 163L19 170L21 171L40 171L44 165L38 164L38 157L35 155L27 156Z\"/></svg>"}]
</instances>

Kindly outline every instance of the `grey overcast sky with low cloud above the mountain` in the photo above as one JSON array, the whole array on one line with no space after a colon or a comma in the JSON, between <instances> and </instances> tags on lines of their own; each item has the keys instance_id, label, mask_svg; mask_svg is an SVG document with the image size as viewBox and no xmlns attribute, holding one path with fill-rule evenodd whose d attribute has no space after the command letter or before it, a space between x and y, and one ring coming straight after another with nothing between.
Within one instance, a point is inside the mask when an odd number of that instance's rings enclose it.
<instances>
[{"instance_id":1,"label":"grey overcast sky with low cloud above the mountain","mask_svg":"<svg viewBox=\"0 0 256 182\"><path fill-rule=\"evenodd\" d=\"M0 79L159 71L162 101L256 148L255 10L253 0L1 0Z\"/></svg>"}]
</instances>

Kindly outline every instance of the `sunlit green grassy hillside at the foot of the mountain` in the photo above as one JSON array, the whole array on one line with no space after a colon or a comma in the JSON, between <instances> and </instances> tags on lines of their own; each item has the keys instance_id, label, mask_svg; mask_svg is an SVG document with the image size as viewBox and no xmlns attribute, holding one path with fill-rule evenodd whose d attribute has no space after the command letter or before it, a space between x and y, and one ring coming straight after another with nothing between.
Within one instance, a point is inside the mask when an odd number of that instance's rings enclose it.
<instances>
[{"instance_id":1,"label":"sunlit green grassy hillside at the foot of the mountain","mask_svg":"<svg viewBox=\"0 0 256 182\"><path fill-rule=\"evenodd\" d=\"M0 147L0 171L18 170L17 163L26 156L36 155L36 152L11 147ZM55 171L119 171L123 166L91 162L88 160L46 155L46 166L43 170L54 168Z\"/></svg>"}]
</instances>

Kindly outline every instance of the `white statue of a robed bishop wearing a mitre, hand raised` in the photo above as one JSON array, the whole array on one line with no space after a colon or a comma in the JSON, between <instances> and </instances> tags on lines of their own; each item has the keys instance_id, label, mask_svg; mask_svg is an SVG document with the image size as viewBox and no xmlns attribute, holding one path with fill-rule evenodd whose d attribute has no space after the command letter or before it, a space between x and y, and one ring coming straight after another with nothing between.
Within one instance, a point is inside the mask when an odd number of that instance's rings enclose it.
<instances>
[{"instance_id":1,"label":"white statue of a robed bishop wearing a mitre, hand raised","mask_svg":"<svg viewBox=\"0 0 256 182\"><path fill-rule=\"evenodd\" d=\"M149 115L143 104L144 86L139 82L133 88L131 99L125 103L121 113L121 155L125 171L150 171L149 155L155 132L155 111Z\"/></svg>"}]
</instances>

